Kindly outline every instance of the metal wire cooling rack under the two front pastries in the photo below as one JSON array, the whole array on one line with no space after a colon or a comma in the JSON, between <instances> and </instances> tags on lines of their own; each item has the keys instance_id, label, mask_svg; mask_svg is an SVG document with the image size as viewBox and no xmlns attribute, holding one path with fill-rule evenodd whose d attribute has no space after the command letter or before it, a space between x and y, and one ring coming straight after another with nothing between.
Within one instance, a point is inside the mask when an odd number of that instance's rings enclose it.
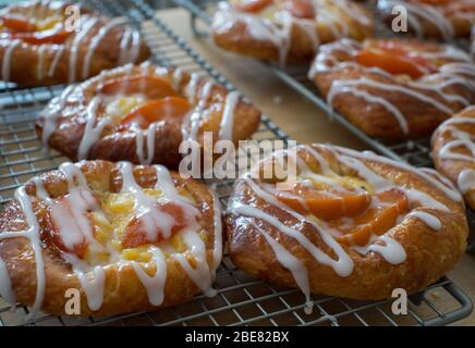
<instances>
[{"instance_id":1,"label":"metal wire cooling rack under the two front pastries","mask_svg":"<svg viewBox=\"0 0 475 348\"><path fill-rule=\"evenodd\" d=\"M87 2L108 15L126 16L141 27L150 46L153 61L180 65L190 72L212 77L229 89L234 87L212 66L175 36L143 0ZM41 150L34 121L49 99L64 86L15 89L0 86L0 202L11 199L14 189L44 171L56 169L65 159ZM285 134L266 116L256 139L283 139ZM223 204L231 183L216 185ZM0 299L1 325L444 325L472 311L471 299L450 279L442 278L424 291L411 296L407 315L394 315L392 301L355 301L314 296L315 310L304 312L304 296L294 289L281 288L251 278L224 256L218 269L214 298L196 297L192 302L173 308L109 318L68 318L38 314L26 320L28 309L10 309Z\"/></svg>"}]
</instances>

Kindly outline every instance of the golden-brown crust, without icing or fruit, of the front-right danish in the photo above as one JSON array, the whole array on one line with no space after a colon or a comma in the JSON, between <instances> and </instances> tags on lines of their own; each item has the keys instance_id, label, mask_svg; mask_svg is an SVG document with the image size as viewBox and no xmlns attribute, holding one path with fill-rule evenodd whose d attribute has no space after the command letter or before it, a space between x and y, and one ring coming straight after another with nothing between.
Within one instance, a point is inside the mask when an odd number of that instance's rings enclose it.
<instances>
[{"instance_id":1,"label":"golden-brown crust, without icing or fruit, of the front-right danish","mask_svg":"<svg viewBox=\"0 0 475 348\"><path fill-rule=\"evenodd\" d=\"M342 172L349 171L342 163L337 162L333 154L324 146L313 145L312 147L329 160L332 169L339 169ZM368 252L366 256L362 256L342 245L354 262L351 275L342 277L330 266L317 262L302 245L279 232L273 225L267 224L260 219L228 214L226 217L228 248L236 266L268 282L297 287L289 270L276 259L275 252L263 234L251 225L249 222L254 222L304 263L308 270L313 294L361 300L386 299L391 297L394 288L404 288L409 294L414 294L452 270L464 253L466 246L468 228L463 204L450 200L437 187L411 172L380 162L360 160L377 174L395 183L397 186L415 186L418 190L447 204L450 212L427 210L440 219L442 228L435 232L417 219L406 219L403 223L391 228L387 235L401 244L406 252L406 260L398 265L388 263L379 253ZM295 226L317 248L331 258L336 258L333 251L324 243L315 227L308 223L302 223L276 206L269 206L245 182L236 182L230 197L230 203L232 201L257 207L284 222L287 226Z\"/></svg>"}]
</instances>

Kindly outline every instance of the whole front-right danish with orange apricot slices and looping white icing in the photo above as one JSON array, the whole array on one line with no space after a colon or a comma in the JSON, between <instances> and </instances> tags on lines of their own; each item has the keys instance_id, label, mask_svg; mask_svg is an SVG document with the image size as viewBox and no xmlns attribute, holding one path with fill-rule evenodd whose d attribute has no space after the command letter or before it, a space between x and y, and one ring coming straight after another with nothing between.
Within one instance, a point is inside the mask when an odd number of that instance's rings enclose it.
<instances>
[{"instance_id":1,"label":"whole front-right danish with orange apricot slices and looping white icing","mask_svg":"<svg viewBox=\"0 0 475 348\"><path fill-rule=\"evenodd\" d=\"M226 216L229 253L256 277L301 288L307 307L309 294L413 294L464 253L462 197L436 171L324 145L276 156L235 183ZM263 177L263 167L285 159L296 163L294 181Z\"/></svg>"}]
</instances>

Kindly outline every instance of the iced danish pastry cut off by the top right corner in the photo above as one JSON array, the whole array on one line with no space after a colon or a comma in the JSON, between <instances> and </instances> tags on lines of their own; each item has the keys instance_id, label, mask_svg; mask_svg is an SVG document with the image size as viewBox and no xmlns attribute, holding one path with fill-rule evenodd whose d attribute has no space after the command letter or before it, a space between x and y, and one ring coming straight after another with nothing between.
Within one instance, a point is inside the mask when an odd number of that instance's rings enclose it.
<instances>
[{"instance_id":1,"label":"iced danish pastry cut off by the top right corner","mask_svg":"<svg viewBox=\"0 0 475 348\"><path fill-rule=\"evenodd\" d=\"M378 9L388 24L398 15L395 7L405 9L407 29L421 39L466 38L475 23L473 0L378 0Z\"/></svg>"}]
</instances>

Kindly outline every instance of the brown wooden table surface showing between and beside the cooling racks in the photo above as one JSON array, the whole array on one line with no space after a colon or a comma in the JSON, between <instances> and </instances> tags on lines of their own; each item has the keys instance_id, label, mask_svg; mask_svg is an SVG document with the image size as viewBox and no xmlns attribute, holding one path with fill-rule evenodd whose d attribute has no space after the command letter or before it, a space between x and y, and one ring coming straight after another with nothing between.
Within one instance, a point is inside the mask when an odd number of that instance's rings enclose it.
<instances>
[{"instance_id":1,"label":"brown wooden table surface showing between and beside the cooling racks","mask_svg":"<svg viewBox=\"0 0 475 348\"><path fill-rule=\"evenodd\" d=\"M209 39L193 37L185 11L160 11L159 16L293 139L368 148L337 122L328 120L318 107L282 83L261 63L220 50ZM475 256L465 254L449 277L475 302ZM475 325L475 311L456 324Z\"/></svg>"}]
</instances>

